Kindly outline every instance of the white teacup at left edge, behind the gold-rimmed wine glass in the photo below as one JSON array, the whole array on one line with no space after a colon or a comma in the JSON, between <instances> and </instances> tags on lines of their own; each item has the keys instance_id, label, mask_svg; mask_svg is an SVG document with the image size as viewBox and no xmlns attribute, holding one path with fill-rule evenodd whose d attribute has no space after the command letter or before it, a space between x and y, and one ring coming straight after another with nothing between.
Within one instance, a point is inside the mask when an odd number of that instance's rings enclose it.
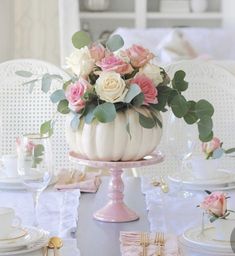
<instances>
[{"instance_id":1,"label":"white teacup at left edge, behind the gold-rimmed wine glass","mask_svg":"<svg viewBox=\"0 0 235 256\"><path fill-rule=\"evenodd\" d=\"M17 155L3 155L1 158L2 171L7 177L18 176Z\"/></svg>"}]
</instances>

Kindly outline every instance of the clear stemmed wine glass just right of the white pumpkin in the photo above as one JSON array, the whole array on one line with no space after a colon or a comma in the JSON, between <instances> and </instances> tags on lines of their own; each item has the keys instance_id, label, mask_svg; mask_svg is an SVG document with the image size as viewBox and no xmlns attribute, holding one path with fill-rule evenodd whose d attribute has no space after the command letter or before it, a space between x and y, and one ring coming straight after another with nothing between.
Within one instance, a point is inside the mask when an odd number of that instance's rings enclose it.
<instances>
[{"instance_id":1,"label":"clear stemmed wine glass just right of the white pumpkin","mask_svg":"<svg viewBox=\"0 0 235 256\"><path fill-rule=\"evenodd\" d=\"M175 195L183 198L192 196L192 193L183 190L182 179L185 161L192 155L196 145L196 134L195 126L186 124L182 118L170 113L166 133L167 148L177 161L180 186Z\"/></svg>"}]
</instances>

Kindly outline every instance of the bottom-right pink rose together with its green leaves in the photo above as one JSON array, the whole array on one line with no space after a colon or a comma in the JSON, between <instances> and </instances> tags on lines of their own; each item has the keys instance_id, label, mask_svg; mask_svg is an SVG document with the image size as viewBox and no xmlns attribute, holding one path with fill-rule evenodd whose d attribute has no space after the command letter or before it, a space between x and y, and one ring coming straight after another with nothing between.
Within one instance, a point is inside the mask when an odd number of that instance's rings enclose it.
<instances>
[{"instance_id":1,"label":"bottom-right pink rose together with its green leaves","mask_svg":"<svg viewBox=\"0 0 235 256\"><path fill-rule=\"evenodd\" d=\"M233 212L227 209L227 199L229 197L225 193L219 191L210 192L208 190L206 190L206 193L208 195L198 207L208 214L210 222L214 222L217 219L226 219L230 212Z\"/></svg>"}]
</instances>

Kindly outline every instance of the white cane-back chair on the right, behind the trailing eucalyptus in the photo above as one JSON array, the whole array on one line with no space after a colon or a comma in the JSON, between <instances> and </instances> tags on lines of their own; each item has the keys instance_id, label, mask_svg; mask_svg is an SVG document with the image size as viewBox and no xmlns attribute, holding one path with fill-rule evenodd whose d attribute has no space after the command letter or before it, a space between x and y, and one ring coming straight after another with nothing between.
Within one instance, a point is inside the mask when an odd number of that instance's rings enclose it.
<instances>
[{"instance_id":1,"label":"white cane-back chair on the right, behind the trailing eucalyptus","mask_svg":"<svg viewBox=\"0 0 235 256\"><path fill-rule=\"evenodd\" d=\"M229 71L235 70L235 62L229 63L228 70L223 66L208 61L182 61L166 67L167 73L173 77L175 71L184 70L189 88L184 93L187 99L207 99L214 108L214 135L221 138L225 148L235 147L235 76ZM170 173L175 170L175 160L168 154L166 146L166 124L168 115L164 113L163 138L159 149L166 159L163 163L148 168L136 169L138 176ZM198 141L197 149L199 150ZM222 166L235 169L235 158L223 158Z\"/></svg>"}]
</instances>

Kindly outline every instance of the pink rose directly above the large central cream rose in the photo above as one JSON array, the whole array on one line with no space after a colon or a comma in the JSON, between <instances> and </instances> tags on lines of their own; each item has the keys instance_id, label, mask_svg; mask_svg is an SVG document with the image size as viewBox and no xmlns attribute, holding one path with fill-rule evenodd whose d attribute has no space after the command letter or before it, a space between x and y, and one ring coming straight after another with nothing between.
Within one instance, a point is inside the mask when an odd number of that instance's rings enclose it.
<instances>
[{"instance_id":1,"label":"pink rose directly above the large central cream rose","mask_svg":"<svg viewBox=\"0 0 235 256\"><path fill-rule=\"evenodd\" d=\"M114 55L108 55L96 63L103 71L114 71L121 75L131 73L132 66Z\"/></svg>"}]
</instances>

